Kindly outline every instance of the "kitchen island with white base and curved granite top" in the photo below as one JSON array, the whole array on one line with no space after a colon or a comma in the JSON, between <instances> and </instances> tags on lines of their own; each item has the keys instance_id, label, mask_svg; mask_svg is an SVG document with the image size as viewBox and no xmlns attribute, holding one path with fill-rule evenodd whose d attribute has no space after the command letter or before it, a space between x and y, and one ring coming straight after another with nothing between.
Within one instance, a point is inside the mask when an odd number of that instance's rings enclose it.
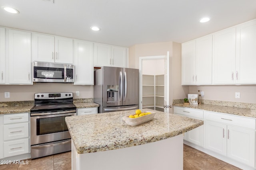
<instances>
[{"instance_id":1,"label":"kitchen island with white base and curved granite top","mask_svg":"<svg viewBox=\"0 0 256 170\"><path fill-rule=\"evenodd\" d=\"M66 117L72 138L72 169L183 169L183 133L202 120L155 112L152 121L130 126L135 110Z\"/></svg>"}]
</instances>

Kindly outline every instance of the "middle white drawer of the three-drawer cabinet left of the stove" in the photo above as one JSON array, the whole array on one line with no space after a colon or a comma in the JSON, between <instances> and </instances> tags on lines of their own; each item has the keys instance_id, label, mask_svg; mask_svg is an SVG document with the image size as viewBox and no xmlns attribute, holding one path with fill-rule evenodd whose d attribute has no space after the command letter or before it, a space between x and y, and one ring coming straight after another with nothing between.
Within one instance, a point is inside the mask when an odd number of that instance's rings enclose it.
<instances>
[{"instance_id":1,"label":"middle white drawer of the three-drawer cabinet left of the stove","mask_svg":"<svg viewBox=\"0 0 256 170\"><path fill-rule=\"evenodd\" d=\"M4 125L4 141L28 137L28 122Z\"/></svg>"}]
</instances>

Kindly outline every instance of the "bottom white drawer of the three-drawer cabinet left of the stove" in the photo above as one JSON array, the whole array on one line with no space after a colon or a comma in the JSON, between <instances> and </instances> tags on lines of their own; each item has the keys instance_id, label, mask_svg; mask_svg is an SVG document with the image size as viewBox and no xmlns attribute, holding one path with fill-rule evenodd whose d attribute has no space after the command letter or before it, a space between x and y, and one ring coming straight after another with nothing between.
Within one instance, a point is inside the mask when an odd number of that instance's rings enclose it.
<instances>
[{"instance_id":1,"label":"bottom white drawer of the three-drawer cabinet left of the stove","mask_svg":"<svg viewBox=\"0 0 256 170\"><path fill-rule=\"evenodd\" d=\"M28 139L4 142L4 157L28 153L28 145Z\"/></svg>"}]
</instances>

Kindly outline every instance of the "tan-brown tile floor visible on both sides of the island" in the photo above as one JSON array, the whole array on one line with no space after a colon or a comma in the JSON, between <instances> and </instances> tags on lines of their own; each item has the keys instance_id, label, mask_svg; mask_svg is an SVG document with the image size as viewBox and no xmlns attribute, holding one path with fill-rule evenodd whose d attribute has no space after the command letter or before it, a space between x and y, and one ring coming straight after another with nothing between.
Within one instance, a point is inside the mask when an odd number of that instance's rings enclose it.
<instances>
[{"instance_id":1,"label":"tan-brown tile floor visible on both sides of the island","mask_svg":"<svg viewBox=\"0 0 256 170\"><path fill-rule=\"evenodd\" d=\"M187 145L183 147L183 160L184 170L241 170ZM28 159L28 164L0 165L0 170L71 170L71 152Z\"/></svg>"}]
</instances>

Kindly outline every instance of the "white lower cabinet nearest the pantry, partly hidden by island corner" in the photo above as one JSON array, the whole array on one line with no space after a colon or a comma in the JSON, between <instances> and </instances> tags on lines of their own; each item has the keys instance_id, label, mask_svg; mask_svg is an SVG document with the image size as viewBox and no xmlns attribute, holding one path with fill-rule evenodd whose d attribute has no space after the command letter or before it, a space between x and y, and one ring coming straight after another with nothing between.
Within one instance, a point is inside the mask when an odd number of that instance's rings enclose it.
<instances>
[{"instance_id":1,"label":"white lower cabinet nearest the pantry, partly hidden by island corner","mask_svg":"<svg viewBox=\"0 0 256 170\"><path fill-rule=\"evenodd\" d=\"M174 114L195 118L195 119L201 119L201 120L204 119L204 111L202 110L189 109L189 108L176 107L176 106L174 106L173 110L174 110L173 111ZM190 143L203 147L204 146L204 125L184 133L183 139Z\"/></svg>"}]
</instances>

